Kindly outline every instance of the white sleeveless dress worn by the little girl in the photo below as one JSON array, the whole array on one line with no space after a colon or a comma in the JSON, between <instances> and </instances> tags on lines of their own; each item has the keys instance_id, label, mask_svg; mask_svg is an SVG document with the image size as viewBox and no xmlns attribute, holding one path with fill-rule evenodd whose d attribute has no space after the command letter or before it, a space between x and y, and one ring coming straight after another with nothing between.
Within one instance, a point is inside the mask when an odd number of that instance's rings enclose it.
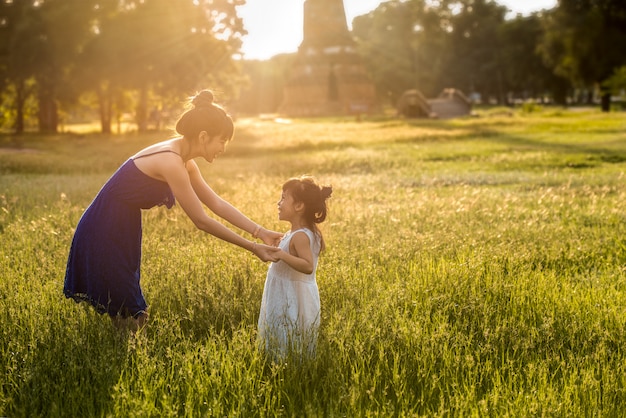
<instances>
[{"instance_id":1,"label":"white sleeveless dress worn by the little girl","mask_svg":"<svg viewBox=\"0 0 626 418\"><path fill-rule=\"evenodd\" d=\"M302 228L285 234L279 247L289 252L291 238L300 232L309 237L313 273L300 273L282 260L272 263L267 271L261 300L258 323L260 343L279 356L288 352L312 355L317 342L320 295L315 272L320 252L319 238L313 231Z\"/></svg>"}]
</instances>

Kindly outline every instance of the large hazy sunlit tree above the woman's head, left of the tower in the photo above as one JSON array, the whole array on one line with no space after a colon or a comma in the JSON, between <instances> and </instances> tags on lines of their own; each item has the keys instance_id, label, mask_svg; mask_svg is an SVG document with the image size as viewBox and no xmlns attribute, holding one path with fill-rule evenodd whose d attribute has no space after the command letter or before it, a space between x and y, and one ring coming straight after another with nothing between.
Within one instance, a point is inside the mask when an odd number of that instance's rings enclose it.
<instances>
[{"instance_id":1,"label":"large hazy sunlit tree above the woman's head, left of the tower","mask_svg":"<svg viewBox=\"0 0 626 418\"><path fill-rule=\"evenodd\" d=\"M81 82L97 93L103 132L110 132L124 91L136 92L140 131L147 129L151 96L167 101L206 85L235 96L239 70L233 55L244 32L235 9L240 3L144 0L113 2L102 10L82 56L90 71Z\"/></svg>"}]
</instances>

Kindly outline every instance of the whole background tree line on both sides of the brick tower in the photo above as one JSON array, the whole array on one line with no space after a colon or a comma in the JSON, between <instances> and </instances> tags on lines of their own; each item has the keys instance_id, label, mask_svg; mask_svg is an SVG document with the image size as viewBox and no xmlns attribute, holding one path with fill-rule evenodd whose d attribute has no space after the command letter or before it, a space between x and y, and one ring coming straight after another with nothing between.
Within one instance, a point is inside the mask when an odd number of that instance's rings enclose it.
<instances>
[{"instance_id":1,"label":"whole background tree line on both sides of the brick tower","mask_svg":"<svg viewBox=\"0 0 626 418\"><path fill-rule=\"evenodd\" d=\"M239 59L245 0L0 1L0 124L18 133L56 132L85 107L105 133L126 113L143 131L206 86L233 110L272 112L293 59ZM352 23L382 102L453 87L502 105L598 95L608 111L626 86L623 0L513 18L492 0L390 0Z\"/></svg>"}]
</instances>

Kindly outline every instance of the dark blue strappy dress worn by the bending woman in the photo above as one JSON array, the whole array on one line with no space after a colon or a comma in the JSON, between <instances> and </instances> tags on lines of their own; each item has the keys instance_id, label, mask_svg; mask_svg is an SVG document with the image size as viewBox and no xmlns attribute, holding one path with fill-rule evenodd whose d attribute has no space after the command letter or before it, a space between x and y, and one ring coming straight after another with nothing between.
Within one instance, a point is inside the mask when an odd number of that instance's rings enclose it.
<instances>
[{"instance_id":1,"label":"dark blue strappy dress worn by the bending woman","mask_svg":"<svg viewBox=\"0 0 626 418\"><path fill-rule=\"evenodd\" d=\"M133 159L126 161L78 222L67 261L65 296L87 301L99 313L112 316L145 312L139 286L141 210L157 205L169 209L174 203L166 182L144 174Z\"/></svg>"}]
</instances>

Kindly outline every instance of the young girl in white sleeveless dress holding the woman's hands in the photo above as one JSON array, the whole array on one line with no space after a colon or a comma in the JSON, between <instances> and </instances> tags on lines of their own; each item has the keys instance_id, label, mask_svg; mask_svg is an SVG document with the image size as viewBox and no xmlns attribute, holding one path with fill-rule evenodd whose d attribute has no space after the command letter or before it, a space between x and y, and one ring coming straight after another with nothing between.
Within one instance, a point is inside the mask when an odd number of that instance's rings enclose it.
<instances>
[{"instance_id":1,"label":"young girl in white sleeveless dress holding the woman's hands","mask_svg":"<svg viewBox=\"0 0 626 418\"><path fill-rule=\"evenodd\" d=\"M317 259L324 239L316 224L326 219L331 187L311 177L288 180L278 201L278 219L291 224L267 272L259 339L277 357L288 352L312 355L320 323L320 296L315 281Z\"/></svg>"}]
</instances>

